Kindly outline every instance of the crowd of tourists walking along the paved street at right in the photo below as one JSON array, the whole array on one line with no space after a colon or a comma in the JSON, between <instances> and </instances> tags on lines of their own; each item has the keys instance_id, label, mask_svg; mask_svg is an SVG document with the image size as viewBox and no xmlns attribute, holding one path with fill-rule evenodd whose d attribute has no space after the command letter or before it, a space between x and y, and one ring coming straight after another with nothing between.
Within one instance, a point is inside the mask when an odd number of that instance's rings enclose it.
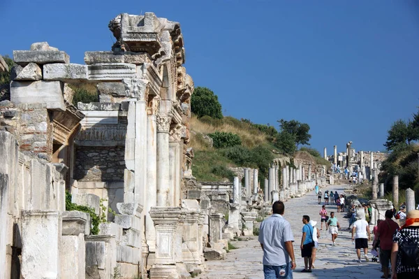
<instances>
[{"instance_id":1,"label":"crowd of tourists walking along the paved street at right","mask_svg":"<svg viewBox=\"0 0 419 279\"><path fill-rule=\"evenodd\" d=\"M315 187L318 196L321 193L318 185ZM328 191L325 191L325 194ZM336 197L335 197L336 194ZM321 226L318 229L317 222L309 215L302 216L302 238L300 242L301 255L304 258L303 273L311 273L316 269L316 250L320 231L325 230L331 235L332 245L336 245L337 236L341 226L335 212L326 210L330 203L337 204L337 213L344 212L345 196L335 192L328 192L324 196L324 203L319 212ZM323 197L323 195L321 195ZM321 198L319 199L321 202ZM338 202L338 203L337 203ZM295 269L295 254L293 250L293 232L290 223L284 219L284 203L276 201L272 205L273 215L260 224L258 240L263 248L263 272L265 279L270 278L293 278ZM369 262L368 247L372 236L369 229L371 207L365 204L349 208L350 221L349 232L355 246L357 262L362 259ZM397 217L399 220L394 221ZM399 227L399 224L402 227ZM352 227L352 228L351 228ZM400 206L399 210L393 208L385 212L385 220L378 220L374 227L374 242L372 243L373 259L381 263L383 276L381 278L419 278L419 210L411 210L406 213L406 207ZM363 257L361 257L363 252ZM291 261L290 261L291 260ZM391 264L391 265L390 265ZM391 266L391 274L389 266Z\"/></svg>"}]
</instances>

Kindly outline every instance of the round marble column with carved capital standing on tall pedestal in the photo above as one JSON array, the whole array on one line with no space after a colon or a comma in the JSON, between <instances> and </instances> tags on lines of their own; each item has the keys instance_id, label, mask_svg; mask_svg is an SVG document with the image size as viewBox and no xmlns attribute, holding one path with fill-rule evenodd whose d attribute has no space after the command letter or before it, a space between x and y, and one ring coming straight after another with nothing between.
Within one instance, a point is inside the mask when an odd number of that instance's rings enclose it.
<instances>
[{"instance_id":1,"label":"round marble column with carved capital standing on tall pedestal","mask_svg":"<svg viewBox=\"0 0 419 279\"><path fill-rule=\"evenodd\" d=\"M169 129L172 117L157 115L157 206L172 206L169 178Z\"/></svg>"}]
</instances>

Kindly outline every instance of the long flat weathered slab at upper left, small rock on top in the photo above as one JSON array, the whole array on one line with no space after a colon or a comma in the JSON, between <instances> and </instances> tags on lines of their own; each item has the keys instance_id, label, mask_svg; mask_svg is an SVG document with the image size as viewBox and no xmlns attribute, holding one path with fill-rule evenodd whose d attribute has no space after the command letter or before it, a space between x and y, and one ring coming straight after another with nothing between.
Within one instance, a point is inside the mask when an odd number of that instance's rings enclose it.
<instances>
[{"instance_id":1,"label":"long flat weathered slab at upper left, small rock on top","mask_svg":"<svg viewBox=\"0 0 419 279\"><path fill-rule=\"evenodd\" d=\"M16 64L26 65L47 63L70 63L70 57L64 51L57 50L13 50L13 60Z\"/></svg>"}]
</instances>

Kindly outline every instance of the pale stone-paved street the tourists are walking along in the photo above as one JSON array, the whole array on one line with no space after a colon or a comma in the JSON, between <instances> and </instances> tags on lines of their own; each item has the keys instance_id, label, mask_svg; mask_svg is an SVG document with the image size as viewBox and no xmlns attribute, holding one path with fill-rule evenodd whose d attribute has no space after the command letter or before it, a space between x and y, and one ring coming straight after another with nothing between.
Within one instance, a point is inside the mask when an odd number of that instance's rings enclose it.
<instances>
[{"instance_id":1,"label":"pale stone-paved street the tourists are walking along","mask_svg":"<svg viewBox=\"0 0 419 279\"><path fill-rule=\"evenodd\" d=\"M330 185L322 188L341 193L348 185ZM344 213L335 213L343 231L339 231L337 245L333 246L331 236L325 231L321 231L319 247L317 249L316 269L312 273L301 273L304 268L304 260L301 257L300 243L302 236L302 215L309 215L316 220L320 229L321 206L317 204L314 192L307 193L300 198L289 199L285 203L286 220L291 222L295 238L294 252L297 268L293 272L293 278L380 278L381 266L376 262L371 262L372 255L369 254L369 262L362 259L362 263L356 262L357 256L354 245L351 241L351 233L347 230L348 219L343 218ZM335 205L326 206L328 213L336 211ZM262 257L263 251L260 248L257 236L243 237L248 241L231 241L237 250L230 250L226 259L223 261L205 262L207 269L198 276L199 279L256 279L263 278ZM369 242L371 248L372 242ZM361 255L363 252L361 252Z\"/></svg>"}]
</instances>

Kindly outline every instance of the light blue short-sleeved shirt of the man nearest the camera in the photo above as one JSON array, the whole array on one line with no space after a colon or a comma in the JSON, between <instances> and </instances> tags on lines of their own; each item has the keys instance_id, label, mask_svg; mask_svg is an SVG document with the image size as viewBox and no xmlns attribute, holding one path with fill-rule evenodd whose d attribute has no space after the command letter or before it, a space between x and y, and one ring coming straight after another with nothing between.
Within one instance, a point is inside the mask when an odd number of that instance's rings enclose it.
<instances>
[{"instance_id":1,"label":"light blue short-sleeved shirt of the man nearest the camera","mask_svg":"<svg viewBox=\"0 0 419 279\"><path fill-rule=\"evenodd\" d=\"M284 266L290 262L285 248L287 241L294 241L291 224L279 214L263 220L258 241L263 244L263 265Z\"/></svg>"}]
</instances>

